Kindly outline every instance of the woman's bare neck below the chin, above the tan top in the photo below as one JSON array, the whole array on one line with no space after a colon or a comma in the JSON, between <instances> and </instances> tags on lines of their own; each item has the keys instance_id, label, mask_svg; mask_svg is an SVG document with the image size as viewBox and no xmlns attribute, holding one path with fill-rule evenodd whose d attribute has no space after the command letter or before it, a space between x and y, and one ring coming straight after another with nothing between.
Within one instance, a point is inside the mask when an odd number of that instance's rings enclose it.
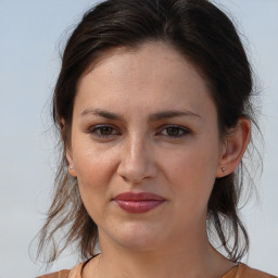
<instances>
[{"instance_id":1,"label":"woman's bare neck below the chin, above the tan top","mask_svg":"<svg viewBox=\"0 0 278 278\"><path fill-rule=\"evenodd\" d=\"M85 278L218 278L233 265L215 251L205 235L164 242L154 250L130 250L100 237L101 254L88 264Z\"/></svg>"}]
</instances>

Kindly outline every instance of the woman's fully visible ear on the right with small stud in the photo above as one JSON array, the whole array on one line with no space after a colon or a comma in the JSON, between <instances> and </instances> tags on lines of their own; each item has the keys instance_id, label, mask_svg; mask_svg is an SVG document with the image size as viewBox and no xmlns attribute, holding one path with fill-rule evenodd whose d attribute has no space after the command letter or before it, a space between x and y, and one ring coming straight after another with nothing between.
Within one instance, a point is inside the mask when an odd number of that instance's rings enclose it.
<instances>
[{"instance_id":1,"label":"woman's fully visible ear on the right with small stud","mask_svg":"<svg viewBox=\"0 0 278 278\"><path fill-rule=\"evenodd\" d=\"M245 152L251 136L251 123L240 117L236 127L224 139L216 177L227 176L238 167Z\"/></svg>"}]
</instances>

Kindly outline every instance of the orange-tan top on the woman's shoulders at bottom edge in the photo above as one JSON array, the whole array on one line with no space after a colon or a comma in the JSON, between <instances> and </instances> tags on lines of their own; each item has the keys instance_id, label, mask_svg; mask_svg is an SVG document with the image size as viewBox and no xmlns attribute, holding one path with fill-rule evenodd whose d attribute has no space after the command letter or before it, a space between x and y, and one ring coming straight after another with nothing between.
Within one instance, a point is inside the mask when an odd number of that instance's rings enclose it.
<instances>
[{"instance_id":1,"label":"orange-tan top on the woman's shoulders at bottom edge","mask_svg":"<svg viewBox=\"0 0 278 278\"><path fill-rule=\"evenodd\" d=\"M87 262L76 265L71 270L60 270L58 273L42 275L37 278L81 278L83 267ZM97 278L97 277L96 277ZM278 278L256 269L253 269L245 264L239 263L238 266L231 268L227 274L220 278Z\"/></svg>"}]
</instances>

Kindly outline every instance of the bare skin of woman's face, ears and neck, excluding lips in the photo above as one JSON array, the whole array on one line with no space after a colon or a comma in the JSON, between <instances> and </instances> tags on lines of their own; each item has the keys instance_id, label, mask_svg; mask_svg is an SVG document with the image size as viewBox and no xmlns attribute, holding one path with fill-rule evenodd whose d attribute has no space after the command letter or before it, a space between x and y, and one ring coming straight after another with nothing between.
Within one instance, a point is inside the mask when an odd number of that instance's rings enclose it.
<instances>
[{"instance_id":1,"label":"bare skin of woman's face, ears and neck, excluding lips","mask_svg":"<svg viewBox=\"0 0 278 278\"><path fill-rule=\"evenodd\" d=\"M67 150L68 172L99 228L101 255L83 277L217 278L229 270L233 264L207 240L206 206L222 167L235 170L249 137L241 118L220 138L205 81L167 45L121 48L94 62L78 84ZM126 191L165 202L130 214L113 201Z\"/></svg>"}]
</instances>

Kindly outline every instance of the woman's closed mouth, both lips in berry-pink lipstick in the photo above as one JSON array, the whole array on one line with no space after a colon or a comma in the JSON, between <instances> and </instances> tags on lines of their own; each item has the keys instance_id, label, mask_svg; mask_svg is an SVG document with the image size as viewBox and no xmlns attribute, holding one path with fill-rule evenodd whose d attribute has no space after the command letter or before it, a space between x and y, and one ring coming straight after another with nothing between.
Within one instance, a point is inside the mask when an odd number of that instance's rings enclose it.
<instances>
[{"instance_id":1,"label":"woman's closed mouth, both lips in berry-pink lipstick","mask_svg":"<svg viewBox=\"0 0 278 278\"><path fill-rule=\"evenodd\" d=\"M139 214L154 210L166 200L150 192L124 192L116 195L113 201L125 212Z\"/></svg>"}]
</instances>

